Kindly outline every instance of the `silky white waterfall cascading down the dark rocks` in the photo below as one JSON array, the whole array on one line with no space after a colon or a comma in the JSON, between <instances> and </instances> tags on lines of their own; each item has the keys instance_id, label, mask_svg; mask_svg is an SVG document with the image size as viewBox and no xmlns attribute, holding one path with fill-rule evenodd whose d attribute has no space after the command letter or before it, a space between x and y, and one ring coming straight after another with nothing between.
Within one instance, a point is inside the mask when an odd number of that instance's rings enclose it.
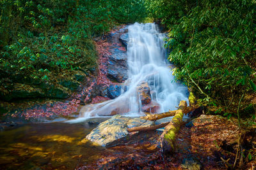
<instances>
[{"instance_id":1,"label":"silky white waterfall cascading down the dark rocks","mask_svg":"<svg viewBox=\"0 0 256 170\"><path fill-rule=\"evenodd\" d=\"M128 75L125 81L127 91L121 96L104 103L84 106L80 118L71 122L83 121L91 117L122 113L129 117L144 115L138 99L136 87L141 81L147 81L152 100L160 105L159 113L176 110L181 100L188 103L187 88L175 83L164 49L164 34L156 24L133 24L128 27L129 42L127 46Z\"/></svg>"}]
</instances>

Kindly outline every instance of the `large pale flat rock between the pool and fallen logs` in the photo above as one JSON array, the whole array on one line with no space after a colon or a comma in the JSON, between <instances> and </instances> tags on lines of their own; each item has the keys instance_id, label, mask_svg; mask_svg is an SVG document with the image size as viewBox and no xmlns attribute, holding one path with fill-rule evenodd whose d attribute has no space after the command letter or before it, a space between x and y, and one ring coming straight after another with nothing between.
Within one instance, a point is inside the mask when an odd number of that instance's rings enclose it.
<instances>
[{"instance_id":1,"label":"large pale flat rock between the pool and fallen logs","mask_svg":"<svg viewBox=\"0 0 256 170\"><path fill-rule=\"evenodd\" d=\"M129 132L127 128L136 126L150 126L152 121L143 120L141 118L130 118L121 115L115 115L109 120L102 122L90 134L86 136L86 139L98 143L101 146L116 146L118 143L122 143L122 140L129 138ZM118 143L116 141L118 140Z\"/></svg>"}]
</instances>

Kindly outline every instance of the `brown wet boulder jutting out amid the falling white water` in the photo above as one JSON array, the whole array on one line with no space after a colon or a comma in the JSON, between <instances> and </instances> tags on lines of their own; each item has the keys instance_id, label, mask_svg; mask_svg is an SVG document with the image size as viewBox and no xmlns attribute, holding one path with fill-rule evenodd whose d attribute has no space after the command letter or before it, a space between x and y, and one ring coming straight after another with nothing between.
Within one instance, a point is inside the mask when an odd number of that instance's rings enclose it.
<instances>
[{"instance_id":1,"label":"brown wet boulder jutting out amid the falling white water","mask_svg":"<svg viewBox=\"0 0 256 170\"><path fill-rule=\"evenodd\" d=\"M139 94L142 105L150 103L151 101L150 88L148 87L147 82L142 81L141 83L139 83L137 87L137 92Z\"/></svg>"}]
</instances>

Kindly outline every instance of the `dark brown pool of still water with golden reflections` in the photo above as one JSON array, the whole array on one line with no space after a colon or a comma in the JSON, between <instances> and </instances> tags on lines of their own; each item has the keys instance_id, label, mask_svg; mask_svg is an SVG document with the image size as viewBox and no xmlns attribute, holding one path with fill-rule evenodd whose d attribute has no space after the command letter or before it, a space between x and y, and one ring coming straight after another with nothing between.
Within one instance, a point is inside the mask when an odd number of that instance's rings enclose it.
<instances>
[{"instance_id":1,"label":"dark brown pool of still water with golden reflections","mask_svg":"<svg viewBox=\"0 0 256 170\"><path fill-rule=\"evenodd\" d=\"M0 169L75 169L104 148L87 139L95 122L27 124L0 132Z\"/></svg>"}]
</instances>

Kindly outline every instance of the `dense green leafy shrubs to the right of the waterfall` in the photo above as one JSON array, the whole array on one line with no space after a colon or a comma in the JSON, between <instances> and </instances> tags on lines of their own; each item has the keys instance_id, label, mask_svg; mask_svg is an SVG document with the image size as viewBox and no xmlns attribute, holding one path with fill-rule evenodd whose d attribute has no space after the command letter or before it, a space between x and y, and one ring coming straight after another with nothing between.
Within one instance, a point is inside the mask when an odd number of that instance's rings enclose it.
<instances>
[{"instance_id":1,"label":"dense green leafy shrubs to the right of the waterfall","mask_svg":"<svg viewBox=\"0 0 256 170\"><path fill-rule=\"evenodd\" d=\"M239 117L256 89L255 1L162 0L150 5L152 15L170 29L166 47L178 66L176 78L216 113Z\"/></svg>"}]
</instances>

